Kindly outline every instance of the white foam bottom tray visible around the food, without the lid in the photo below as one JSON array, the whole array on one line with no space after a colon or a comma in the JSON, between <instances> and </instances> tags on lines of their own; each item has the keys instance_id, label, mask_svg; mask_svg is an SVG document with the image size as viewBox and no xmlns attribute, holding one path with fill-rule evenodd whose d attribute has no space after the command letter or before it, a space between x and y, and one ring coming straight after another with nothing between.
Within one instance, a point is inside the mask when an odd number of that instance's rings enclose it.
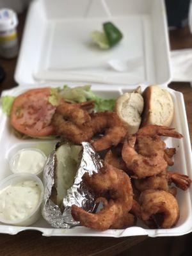
<instances>
[{"instance_id":1,"label":"white foam bottom tray visible around the food, without the lid","mask_svg":"<svg viewBox=\"0 0 192 256\"><path fill-rule=\"evenodd\" d=\"M49 86L49 84L46 84L46 86L47 85ZM56 84L55 86L58 85L59 84ZM77 86L79 84L70 83L69 85ZM17 96L20 93L29 90L30 88L33 88L33 86L19 86L17 88L13 88L12 90L4 91L3 95ZM92 86L92 90L104 98L118 97L122 93L129 92L134 88L135 86L129 86L129 89L127 89L126 85L118 86L117 84L111 84L111 86L106 86L106 84L93 84ZM144 90L144 88L145 86L142 86L142 90ZM177 131L184 135L184 138L181 140L175 138L166 138L165 140L168 147L175 147L177 149L177 153L174 157L174 165L172 168L170 168L170 170L182 172L186 175L189 175L189 177L192 177L191 147L184 99L182 93L175 92L169 88L167 90L172 95L175 109L172 127L175 127ZM13 154L20 148L35 147L36 143L39 144L46 142L40 142L38 140L32 139L20 140L19 138L16 138L13 134L12 128L10 127L9 118L2 113L0 108L0 180L11 174L8 164L10 157L12 157ZM192 231L191 195L192 188L189 188L187 191L180 191L180 189L178 189L177 199L179 200L180 219L177 225L170 229L148 229L141 223L138 223L138 225L141 224L141 227L130 227L124 230L106 230L104 232L97 232L85 227L74 227L71 229L52 228L45 220L41 219L31 227L15 227L1 223L0 232L6 234L17 234L22 230L39 230L42 232L43 236L181 236Z\"/></svg>"}]
</instances>

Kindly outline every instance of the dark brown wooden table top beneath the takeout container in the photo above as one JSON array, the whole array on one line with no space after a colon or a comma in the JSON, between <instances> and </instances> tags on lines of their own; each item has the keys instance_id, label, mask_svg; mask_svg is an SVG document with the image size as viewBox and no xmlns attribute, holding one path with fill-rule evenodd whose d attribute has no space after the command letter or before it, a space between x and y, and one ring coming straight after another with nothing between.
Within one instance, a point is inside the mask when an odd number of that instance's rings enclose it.
<instances>
[{"instance_id":1,"label":"dark brown wooden table top beneath the takeout container","mask_svg":"<svg viewBox=\"0 0 192 256\"><path fill-rule=\"evenodd\" d=\"M24 27L25 14L19 15L19 38ZM192 36L188 28L170 32L172 49L192 47ZM0 65L6 72L6 79L1 84L0 92L17 84L13 74L17 58L0 59ZM186 104L189 132L192 138L192 89L189 83L171 83L170 88L182 92ZM40 232L26 231L15 236L0 234L0 255L32 256L32 255L116 255L134 244L138 244L147 236L104 238L104 237L43 237Z\"/></svg>"}]
</instances>

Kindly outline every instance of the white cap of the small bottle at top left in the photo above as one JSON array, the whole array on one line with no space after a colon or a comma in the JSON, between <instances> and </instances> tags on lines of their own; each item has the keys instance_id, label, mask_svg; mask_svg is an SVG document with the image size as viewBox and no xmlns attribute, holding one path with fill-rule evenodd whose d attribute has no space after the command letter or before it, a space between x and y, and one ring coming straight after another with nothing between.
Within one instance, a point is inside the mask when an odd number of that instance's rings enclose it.
<instances>
[{"instance_id":1,"label":"white cap of the small bottle at top left","mask_svg":"<svg viewBox=\"0 0 192 256\"><path fill-rule=\"evenodd\" d=\"M6 8L0 9L0 32L14 29L17 24L17 13Z\"/></svg>"}]
</instances>

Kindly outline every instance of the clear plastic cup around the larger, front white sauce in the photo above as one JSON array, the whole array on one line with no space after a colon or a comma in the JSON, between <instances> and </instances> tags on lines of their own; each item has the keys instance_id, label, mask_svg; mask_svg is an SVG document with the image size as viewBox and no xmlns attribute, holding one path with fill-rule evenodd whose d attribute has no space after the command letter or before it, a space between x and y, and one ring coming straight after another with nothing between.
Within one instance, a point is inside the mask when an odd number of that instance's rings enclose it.
<instances>
[{"instance_id":1,"label":"clear plastic cup around the larger, front white sauce","mask_svg":"<svg viewBox=\"0 0 192 256\"><path fill-rule=\"evenodd\" d=\"M42 181L33 174L28 173L18 173L18 174L12 174L5 179L1 180L0 182L0 191L4 188L7 188L8 186L13 186L19 182L28 181L28 180L34 180L40 187L40 198L39 202L36 205L36 207L33 209L33 211L27 216L26 218L22 220L4 220L0 216L0 221L9 225L16 225L16 226L29 226L35 223L41 216L41 209L40 206L42 204L43 196L44 196L44 185L42 184ZM15 198L17 200L17 198ZM28 202L28 196L26 196L26 202Z\"/></svg>"}]
</instances>

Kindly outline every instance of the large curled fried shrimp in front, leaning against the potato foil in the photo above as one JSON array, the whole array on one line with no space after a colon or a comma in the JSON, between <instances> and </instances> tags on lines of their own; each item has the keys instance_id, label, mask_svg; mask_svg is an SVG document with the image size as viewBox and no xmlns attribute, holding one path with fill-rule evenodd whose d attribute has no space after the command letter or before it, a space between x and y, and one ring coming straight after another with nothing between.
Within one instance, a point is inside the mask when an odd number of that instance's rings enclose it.
<instances>
[{"instance_id":1,"label":"large curled fried shrimp in front, leaning against the potato foil","mask_svg":"<svg viewBox=\"0 0 192 256\"><path fill-rule=\"evenodd\" d=\"M109 195L110 200L108 203L104 202L102 210L95 214L72 205L74 220L96 230L124 226L127 221L130 223L131 217L127 214L132 207L132 186L125 172L105 163L99 173L93 173L91 177L84 173L83 182L96 196Z\"/></svg>"}]
</instances>

